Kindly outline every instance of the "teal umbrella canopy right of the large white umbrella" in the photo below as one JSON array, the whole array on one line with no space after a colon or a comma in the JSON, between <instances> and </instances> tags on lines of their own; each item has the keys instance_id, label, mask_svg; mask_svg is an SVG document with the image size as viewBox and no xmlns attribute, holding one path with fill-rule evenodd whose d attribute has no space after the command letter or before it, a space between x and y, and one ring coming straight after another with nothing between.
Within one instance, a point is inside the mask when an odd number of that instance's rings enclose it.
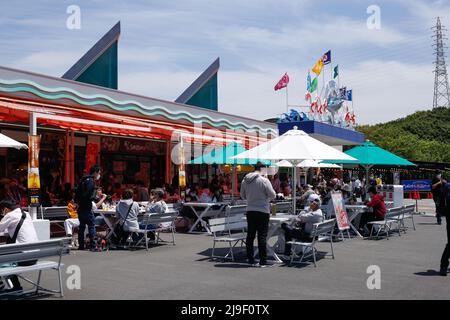
<instances>
[{"instance_id":1,"label":"teal umbrella canopy right of the large white umbrella","mask_svg":"<svg viewBox=\"0 0 450 320\"><path fill-rule=\"evenodd\" d=\"M358 160L327 160L322 162L359 165L415 166L414 163L380 148L371 141L366 141L357 147L345 151L345 153Z\"/></svg>"}]
</instances>

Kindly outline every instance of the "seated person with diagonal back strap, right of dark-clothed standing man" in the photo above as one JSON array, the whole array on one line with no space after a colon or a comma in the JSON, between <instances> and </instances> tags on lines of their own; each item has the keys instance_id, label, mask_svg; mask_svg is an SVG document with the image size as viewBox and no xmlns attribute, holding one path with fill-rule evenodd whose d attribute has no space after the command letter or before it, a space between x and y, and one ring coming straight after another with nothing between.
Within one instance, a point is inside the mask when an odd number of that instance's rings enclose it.
<instances>
[{"instance_id":1,"label":"seated person with diagonal back strap, right of dark-clothed standing man","mask_svg":"<svg viewBox=\"0 0 450 320\"><path fill-rule=\"evenodd\" d=\"M139 204L133 201L133 190L126 189L122 192L122 199L116 207L116 217L123 227L123 236L117 239L118 243L125 243L130 232L139 229L138 223Z\"/></svg>"}]
</instances>

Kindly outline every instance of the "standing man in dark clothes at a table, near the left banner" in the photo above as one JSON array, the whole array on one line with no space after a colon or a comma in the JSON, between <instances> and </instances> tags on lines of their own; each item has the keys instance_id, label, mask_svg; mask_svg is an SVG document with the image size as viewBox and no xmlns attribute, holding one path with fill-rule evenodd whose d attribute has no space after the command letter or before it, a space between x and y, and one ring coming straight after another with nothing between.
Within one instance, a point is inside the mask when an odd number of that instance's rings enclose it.
<instances>
[{"instance_id":1,"label":"standing man in dark clothes at a table, near the left banner","mask_svg":"<svg viewBox=\"0 0 450 320\"><path fill-rule=\"evenodd\" d=\"M96 248L94 243L95 237L95 216L92 211L92 201L95 199L95 181L99 180L100 167L93 165L89 170L89 175L81 178L75 194L75 202L78 204L78 219L80 226L78 228L79 250L84 250L84 231L88 227L88 236L90 240L90 249L94 251Z\"/></svg>"}]
</instances>

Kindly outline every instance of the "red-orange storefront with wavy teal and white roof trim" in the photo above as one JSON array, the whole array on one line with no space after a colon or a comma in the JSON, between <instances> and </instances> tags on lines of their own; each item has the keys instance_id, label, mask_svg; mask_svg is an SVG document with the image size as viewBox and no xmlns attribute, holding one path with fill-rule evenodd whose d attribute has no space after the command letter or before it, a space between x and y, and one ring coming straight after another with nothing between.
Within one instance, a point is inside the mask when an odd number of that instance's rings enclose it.
<instances>
[{"instance_id":1,"label":"red-orange storefront with wavy teal and white roof trim","mask_svg":"<svg viewBox=\"0 0 450 320\"><path fill-rule=\"evenodd\" d=\"M27 143L33 128L41 135L39 169L48 186L75 185L92 162L116 182L162 186L176 180L181 141L200 149L239 141L248 148L277 135L275 124L263 121L0 67L0 130ZM1 150L1 177L25 176L26 165L26 151ZM190 177L212 173L195 168Z\"/></svg>"}]
</instances>

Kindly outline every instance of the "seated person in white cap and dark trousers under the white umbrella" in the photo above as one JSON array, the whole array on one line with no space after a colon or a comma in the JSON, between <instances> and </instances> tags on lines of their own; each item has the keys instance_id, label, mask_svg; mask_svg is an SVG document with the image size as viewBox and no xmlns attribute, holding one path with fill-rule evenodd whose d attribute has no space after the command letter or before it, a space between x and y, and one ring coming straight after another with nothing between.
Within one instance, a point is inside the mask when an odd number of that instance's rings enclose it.
<instances>
[{"instance_id":1,"label":"seated person in white cap and dark trousers under the white umbrella","mask_svg":"<svg viewBox=\"0 0 450 320\"><path fill-rule=\"evenodd\" d=\"M317 194L312 194L308 198L309 208L306 211L302 211L298 216L294 218L291 225L286 223L281 224L281 228L284 230L284 238L286 244L284 246L284 254L286 256L291 255L291 245L288 241L297 239L300 241L311 242L311 231L313 224L323 221L322 210L320 210L320 197Z\"/></svg>"}]
</instances>

